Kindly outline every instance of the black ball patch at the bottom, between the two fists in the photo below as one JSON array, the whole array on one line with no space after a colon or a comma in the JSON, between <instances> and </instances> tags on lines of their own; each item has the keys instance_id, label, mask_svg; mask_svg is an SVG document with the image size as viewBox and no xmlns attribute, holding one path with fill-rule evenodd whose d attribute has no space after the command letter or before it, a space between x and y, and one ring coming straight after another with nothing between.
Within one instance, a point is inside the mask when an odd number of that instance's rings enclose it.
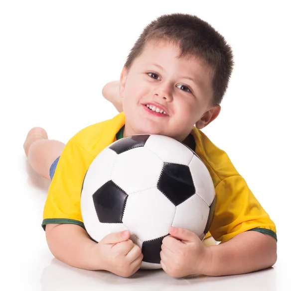
<instances>
[{"instance_id":1,"label":"black ball patch at the bottom, between the two fists","mask_svg":"<svg viewBox=\"0 0 299 291\"><path fill-rule=\"evenodd\" d=\"M142 244L142 253L143 253L143 262L153 263L153 264L160 264L160 252L161 252L161 245L162 240L168 234L152 239L144 241Z\"/></svg>"}]
</instances>

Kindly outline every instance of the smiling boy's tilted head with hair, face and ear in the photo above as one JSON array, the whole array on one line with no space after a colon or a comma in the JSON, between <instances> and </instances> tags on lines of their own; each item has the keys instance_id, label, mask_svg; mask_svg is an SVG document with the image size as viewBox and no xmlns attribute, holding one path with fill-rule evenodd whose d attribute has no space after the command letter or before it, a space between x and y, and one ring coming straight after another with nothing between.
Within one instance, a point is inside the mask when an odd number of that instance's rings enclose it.
<instances>
[{"instance_id":1,"label":"smiling boy's tilted head with hair, face and ear","mask_svg":"<svg viewBox=\"0 0 299 291\"><path fill-rule=\"evenodd\" d=\"M218 116L232 68L231 48L207 22L188 14L158 17L140 35L121 74L125 135L183 141L194 124L203 128Z\"/></svg>"}]
</instances>

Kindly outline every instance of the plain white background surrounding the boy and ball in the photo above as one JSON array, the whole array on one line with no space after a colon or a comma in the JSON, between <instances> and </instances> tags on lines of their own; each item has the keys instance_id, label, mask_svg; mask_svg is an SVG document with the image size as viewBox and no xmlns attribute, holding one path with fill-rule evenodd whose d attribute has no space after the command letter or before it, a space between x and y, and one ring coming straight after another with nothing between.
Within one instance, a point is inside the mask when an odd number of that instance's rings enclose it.
<instances>
[{"instance_id":1,"label":"plain white background surrounding the boy and ball","mask_svg":"<svg viewBox=\"0 0 299 291\"><path fill-rule=\"evenodd\" d=\"M297 290L299 44L297 1L0 0L1 290ZM54 259L41 228L48 182L26 163L33 126L67 142L111 118L101 94L155 17L196 14L225 36L235 69L204 132L230 156L277 225L274 268L228 277L124 279ZM291 286L293 284L293 286ZM208 289L207 289L208 288Z\"/></svg>"}]
</instances>

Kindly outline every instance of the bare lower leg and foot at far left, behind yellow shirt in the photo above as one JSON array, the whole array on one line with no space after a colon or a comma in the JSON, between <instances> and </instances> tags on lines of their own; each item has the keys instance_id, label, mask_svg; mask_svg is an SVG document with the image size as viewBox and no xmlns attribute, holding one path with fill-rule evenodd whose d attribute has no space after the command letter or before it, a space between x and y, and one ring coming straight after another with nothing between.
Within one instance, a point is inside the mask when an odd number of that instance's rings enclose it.
<instances>
[{"instance_id":1,"label":"bare lower leg and foot at far left, behind yellow shirt","mask_svg":"<svg viewBox=\"0 0 299 291\"><path fill-rule=\"evenodd\" d=\"M61 155L64 147L65 144L58 140L49 140L46 131L41 127L30 129L23 145L30 166L48 180L50 167Z\"/></svg>"}]
</instances>

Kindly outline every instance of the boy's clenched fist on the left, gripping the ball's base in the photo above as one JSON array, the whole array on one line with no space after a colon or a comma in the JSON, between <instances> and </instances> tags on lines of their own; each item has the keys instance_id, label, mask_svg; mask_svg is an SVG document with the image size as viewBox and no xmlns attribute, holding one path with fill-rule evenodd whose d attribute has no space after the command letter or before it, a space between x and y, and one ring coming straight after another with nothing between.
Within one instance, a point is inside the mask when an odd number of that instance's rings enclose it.
<instances>
[{"instance_id":1,"label":"boy's clenched fist on the left, gripping the ball's base","mask_svg":"<svg viewBox=\"0 0 299 291\"><path fill-rule=\"evenodd\" d=\"M101 261L101 269L122 277L130 277L140 268L141 248L130 238L130 231L110 233L94 246L93 254Z\"/></svg>"}]
</instances>

